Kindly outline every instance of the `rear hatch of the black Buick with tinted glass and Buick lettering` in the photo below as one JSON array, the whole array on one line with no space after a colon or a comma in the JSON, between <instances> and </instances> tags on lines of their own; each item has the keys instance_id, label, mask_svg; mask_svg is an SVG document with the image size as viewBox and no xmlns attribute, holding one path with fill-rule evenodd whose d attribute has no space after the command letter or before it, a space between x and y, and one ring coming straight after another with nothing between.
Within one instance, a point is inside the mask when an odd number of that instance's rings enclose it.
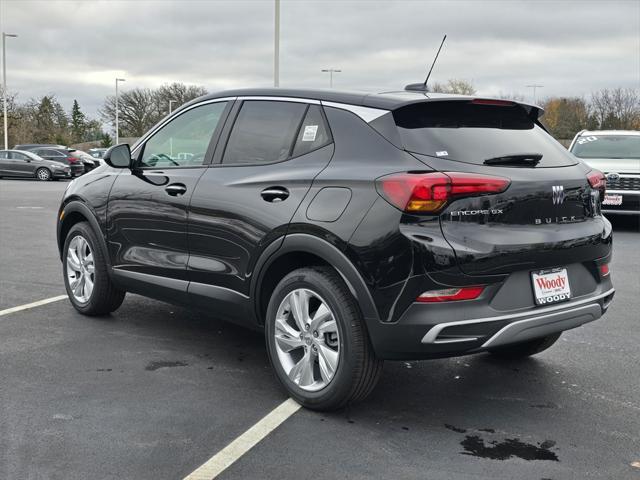
<instances>
[{"instance_id":1,"label":"rear hatch of the black Buick with tinted glass and Buick lettering","mask_svg":"<svg viewBox=\"0 0 640 480\"><path fill-rule=\"evenodd\" d=\"M540 126L538 113L489 100L394 111L404 148L429 167L509 181L500 193L460 195L439 212L442 233L468 275L560 267L609 253L610 226L589 167Z\"/></svg>"}]
</instances>

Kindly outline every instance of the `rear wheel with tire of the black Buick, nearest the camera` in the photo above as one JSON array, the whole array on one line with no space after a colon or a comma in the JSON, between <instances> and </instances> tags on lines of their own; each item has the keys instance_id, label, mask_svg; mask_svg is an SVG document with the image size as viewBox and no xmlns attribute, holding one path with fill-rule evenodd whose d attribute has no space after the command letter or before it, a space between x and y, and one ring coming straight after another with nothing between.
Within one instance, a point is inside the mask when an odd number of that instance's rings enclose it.
<instances>
[{"instance_id":1,"label":"rear wheel with tire of the black Buick, nearest the camera","mask_svg":"<svg viewBox=\"0 0 640 480\"><path fill-rule=\"evenodd\" d=\"M300 314L294 315L296 302L303 306L299 311L308 313L310 328L302 332L304 338L297 321ZM322 305L324 315L319 314ZM374 355L358 304L332 268L301 268L285 276L271 295L265 335L276 377L309 409L336 410L363 400L380 378L383 362ZM300 368L305 358L310 368Z\"/></svg>"}]
</instances>

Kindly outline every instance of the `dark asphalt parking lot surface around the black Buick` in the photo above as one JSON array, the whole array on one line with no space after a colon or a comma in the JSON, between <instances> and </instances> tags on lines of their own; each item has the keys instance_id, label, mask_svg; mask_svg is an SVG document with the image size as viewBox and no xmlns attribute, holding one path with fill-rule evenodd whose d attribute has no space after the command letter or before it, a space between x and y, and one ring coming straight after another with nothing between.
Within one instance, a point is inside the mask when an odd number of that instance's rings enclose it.
<instances>
[{"instance_id":1,"label":"dark asphalt parking lot surface around the black Buick","mask_svg":"<svg viewBox=\"0 0 640 480\"><path fill-rule=\"evenodd\" d=\"M0 310L64 294L65 186L0 181ZM614 228L603 319L519 363L388 362L365 403L297 411L218 478L640 478L640 232ZM285 399L261 335L214 313L0 316L2 479L180 479Z\"/></svg>"}]
</instances>

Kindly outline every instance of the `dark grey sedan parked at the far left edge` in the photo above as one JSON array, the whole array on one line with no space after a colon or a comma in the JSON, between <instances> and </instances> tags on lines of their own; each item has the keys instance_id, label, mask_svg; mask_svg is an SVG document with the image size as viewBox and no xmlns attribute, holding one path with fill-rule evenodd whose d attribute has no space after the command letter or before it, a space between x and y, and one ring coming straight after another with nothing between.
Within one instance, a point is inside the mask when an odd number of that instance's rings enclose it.
<instances>
[{"instance_id":1,"label":"dark grey sedan parked at the far left edge","mask_svg":"<svg viewBox=\"0 0 640 480\"><path fill-rule=\"evenodd\" d=\"M68 165L45 160L33 152L21 150L0 150L0 178L35 177L38 180L58 180L71 178Z\"/></svg>"}]
</instances>

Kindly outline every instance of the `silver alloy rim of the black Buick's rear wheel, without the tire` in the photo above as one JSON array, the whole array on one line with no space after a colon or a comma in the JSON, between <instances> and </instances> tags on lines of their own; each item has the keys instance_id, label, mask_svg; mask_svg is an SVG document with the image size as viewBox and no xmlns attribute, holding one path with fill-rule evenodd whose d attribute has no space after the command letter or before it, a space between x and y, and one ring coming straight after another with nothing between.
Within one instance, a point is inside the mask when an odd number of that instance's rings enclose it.
<instances>
[{"instance_id":1,"label":"silver alloy rim of the black Buick's rear wheel, without the tire","mask_svg":"<svg viewBox=\"0 0 640 480\"><path fill-rule=\"evenodd\" d=\"M333 379L340 361L340 334L328 304L299 288L280 303L274 328L280 365L306 391L318 391Z\"/></svg>"}]
</instances>

